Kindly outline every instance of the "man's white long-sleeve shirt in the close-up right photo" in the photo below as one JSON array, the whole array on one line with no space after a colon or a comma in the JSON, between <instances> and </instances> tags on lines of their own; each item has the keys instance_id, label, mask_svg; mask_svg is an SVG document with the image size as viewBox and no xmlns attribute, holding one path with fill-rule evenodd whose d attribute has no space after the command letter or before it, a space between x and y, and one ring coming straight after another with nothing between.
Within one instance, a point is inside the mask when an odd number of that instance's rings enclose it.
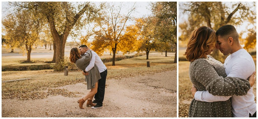
<instances>
[{"instance_id":1,"label":"man's white long-sleeve shirt in the close-up right photo","mask_svg":"<svg viewBox=\"0 0 258 119\"><path fill-rule=\"evenodd\" d=\"M252 56L245 50L240 49L229 55L224 62L225 71L228 77L239 77L247 79L255 71L255 64ZM256 112L253 87L243 96L215 96L208 91L197 91L195 100L203 102L226 101L230 97L233 117L249 117Z\"/></svg>"}]
</instances>

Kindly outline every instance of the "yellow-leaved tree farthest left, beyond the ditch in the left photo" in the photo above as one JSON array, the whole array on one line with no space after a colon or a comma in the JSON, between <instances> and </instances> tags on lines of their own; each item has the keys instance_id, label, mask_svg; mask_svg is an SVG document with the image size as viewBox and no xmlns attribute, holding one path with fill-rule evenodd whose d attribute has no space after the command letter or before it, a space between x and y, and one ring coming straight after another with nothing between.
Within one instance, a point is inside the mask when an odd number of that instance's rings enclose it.
<instances>
[{"instance_id":1,"label":"yellow-leaved tree farthest left, beyond the ditch in the left photo","mask_svg":"<svg viewBox=\"0 0 258 119\"><path fill-rule=\"evenodd\" d=\"M3 20L3 25L5 28L10 26L8 22L13 23L11 25L12 30L7 30L6 39L14 39L12 42L15 42L15 44L24 45L25 47L21 48L25 49L27 54L27 60L25 62L31 62L30 53L32 46L39 40L41 20L40 18L36 17L35 14L29 13L28 10L21 10L20 12L16 13L15 16L10 18L12 19L7 17L7 19ZM13 36L10 36L11 34Z\"/></svg>"}]
</instances>

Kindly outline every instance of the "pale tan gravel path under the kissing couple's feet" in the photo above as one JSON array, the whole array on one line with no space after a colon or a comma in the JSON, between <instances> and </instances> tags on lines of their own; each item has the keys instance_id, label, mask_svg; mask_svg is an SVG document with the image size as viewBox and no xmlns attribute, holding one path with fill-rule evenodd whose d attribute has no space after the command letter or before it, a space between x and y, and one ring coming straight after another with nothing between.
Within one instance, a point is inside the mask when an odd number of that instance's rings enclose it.
<instances>
[{"instance_id":1,"label":"pale tan gravel path under the kissing couple's feet","mask_svg":"<svg viewBox=\"0 0 258 119\"><path fill-rule=\"evenodd\" d=\"M85 86L77 83L59 89L86 94ZM61 95L25 101L2 99L2 117L176 117L176 70L107 80L100 109L86 104L86 109L79 109L78 99Z\"/></svg>"}]
</instances>

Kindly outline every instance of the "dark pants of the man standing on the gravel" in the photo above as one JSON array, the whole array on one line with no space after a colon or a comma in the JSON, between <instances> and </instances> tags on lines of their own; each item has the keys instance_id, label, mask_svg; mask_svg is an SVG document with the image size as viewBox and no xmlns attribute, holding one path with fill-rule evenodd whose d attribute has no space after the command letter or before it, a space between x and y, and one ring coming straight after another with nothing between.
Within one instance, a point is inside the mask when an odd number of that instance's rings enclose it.
<instances>
[{"instance_id":1,"label":"dark pants of the man standing on the gravel","mask_svg":"<svg viewBox=\"0 0 258 119\"><path fill-rule=\"evenodd\" d=\"M98 83L98 91L94 96L97 104L100 106L103 105L107 74L108 74L107 69L100 73L101 79L99 80L99 83Z\"/></svg>"}]
</instances>

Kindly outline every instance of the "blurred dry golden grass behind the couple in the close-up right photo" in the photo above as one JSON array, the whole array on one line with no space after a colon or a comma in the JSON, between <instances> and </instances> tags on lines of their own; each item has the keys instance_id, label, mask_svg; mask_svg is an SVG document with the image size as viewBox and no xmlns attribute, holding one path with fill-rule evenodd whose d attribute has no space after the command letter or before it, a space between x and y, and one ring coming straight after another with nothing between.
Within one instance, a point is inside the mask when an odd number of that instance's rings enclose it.
<instances>
[{"instance_id":1,"label":"blurred dry golden grass behind the couple in the close-up right photo","mask_svg":"<svg viewBox=\"0 0 258 119\"><path fill-rule=\"evenodd\" d=\"M256 55L252 56L256 66ZM189 79L189 64L188 61L180 61L179 66L179 79L178 79L178 99L179 99L179 117L188 117L188 110L190 105L190 100L193 99L191 88L192 83ZM253 93L255 95L256 102L256 83L253 86Z\"/></svg>"}]
</instances>

